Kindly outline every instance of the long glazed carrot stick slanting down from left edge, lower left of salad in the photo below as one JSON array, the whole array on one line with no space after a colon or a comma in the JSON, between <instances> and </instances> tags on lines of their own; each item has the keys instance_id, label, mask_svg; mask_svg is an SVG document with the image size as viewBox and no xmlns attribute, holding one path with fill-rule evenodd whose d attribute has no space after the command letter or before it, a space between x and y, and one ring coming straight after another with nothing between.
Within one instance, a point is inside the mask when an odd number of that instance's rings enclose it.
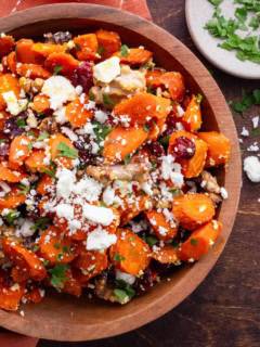
<instances>
[{"instance_id":1,"label":"long glazed carrot stick slanting down from left edge, lower left of salad","mask_svg":"<svg viewBox=\"0 0 260 347\"><path fill-rule=\"evenodd\" d=\"M21 269L27 269L29 277L35 281L42 281L47 271L37 255L18 244L14 239L3 236L2 249L8 259Z\"/></svg>"}]
</instances>

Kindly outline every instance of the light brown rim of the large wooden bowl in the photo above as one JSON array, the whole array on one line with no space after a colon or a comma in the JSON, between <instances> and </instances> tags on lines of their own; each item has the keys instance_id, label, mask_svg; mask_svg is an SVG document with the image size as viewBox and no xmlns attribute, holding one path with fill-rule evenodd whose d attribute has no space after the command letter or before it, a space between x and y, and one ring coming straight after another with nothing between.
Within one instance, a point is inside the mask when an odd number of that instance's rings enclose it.
<instances>
[{"instance_id":1,"label":"light brown rim of the large wooden bowl","mask_svg":"<svg viewBox=\"0 0 260 347\"><path fill-rule=\"evenodd\" d=\"M14 332L55 340L90 340L119 335L159 318L184 300L206 278L223 252L234 224L240 195L242 159L236 128L230 108L214 79L183 43L153 22L104 5L58 3L28 9L3 17L0 20L0 33L8 33L37 22L61 18L89 18L115 24L145 36L168 51L196 80L213 110L220 131L231 139L233 149L231 169L225 174L225 188L229 191L229 198L223 202L219 217L223 223L221 242L217 242L216 249L213 248L208 256L196 262L188 271L184 270L184 275L174 287L171 287L169 282L165 293L158 296L155 301L148 303L142 310L133 309L130 314L102 324L69 325L60 321L58 329L48 324L48 322L43 326L41 322L29 320L26 316L23 318L17 313L0 310L0 325ZM138 29L136 23L139 24ZM191 62L192 65L190 65Z\"/></svg>"}]
</instances>

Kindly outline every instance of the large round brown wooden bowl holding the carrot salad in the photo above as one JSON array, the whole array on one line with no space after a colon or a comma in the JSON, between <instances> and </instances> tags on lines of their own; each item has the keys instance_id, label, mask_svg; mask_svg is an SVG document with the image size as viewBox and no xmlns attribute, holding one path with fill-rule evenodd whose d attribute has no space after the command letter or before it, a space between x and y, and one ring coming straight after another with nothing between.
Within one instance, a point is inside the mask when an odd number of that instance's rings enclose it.
<instances>
[{"instance_id":1,"label":"large round brown wooden bowl holding the carrot salad","mask_svg":"<svg viewBox=\"0 0 260 347\"><path fill-rule=\"evenodd\" d=\"M200 261L184 266L162 280L146 295L126 306L99 299L74 298L51 292L37 305L25 305L18 312L0 310L0 325L40 338L56 340L89 340L126 333L168 312L185 299L205 279L216 264L230 236L240 193L240 152L234 121L225 100L206 67L179 40L155 24L130 13L102 5L52 4L12 14L0 20L0 33L15 38L40 37L48 31L93 31L96 28L116 30L128 46L144 46L153 51L158 65L183 74L186 86L203 94L204 129L223 132L232 142L232 158L227 172L217 171L229 198L219 210L223 232L212 250Z\"/></svg>"}]
</instances>

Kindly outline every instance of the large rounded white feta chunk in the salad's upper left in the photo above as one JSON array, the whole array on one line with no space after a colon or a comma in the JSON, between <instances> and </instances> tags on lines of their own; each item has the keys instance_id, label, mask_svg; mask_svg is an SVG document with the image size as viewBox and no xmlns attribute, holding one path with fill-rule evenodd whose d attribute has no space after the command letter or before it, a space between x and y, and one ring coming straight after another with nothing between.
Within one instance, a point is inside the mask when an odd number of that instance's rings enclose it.
<instances>
[{"instance_id":1,"label":"large rounded white feta chunk in the salad's upper left","mask_svg":"<svg viewBox=\"0 0 260 347\"><path fill-rule=\"evenodd\" d=\"M51 108L56 111L67 101L76 98L72 82L63 76L52 76L44 81L42 93L50 98Z\"/></svg>"}]
</instances>

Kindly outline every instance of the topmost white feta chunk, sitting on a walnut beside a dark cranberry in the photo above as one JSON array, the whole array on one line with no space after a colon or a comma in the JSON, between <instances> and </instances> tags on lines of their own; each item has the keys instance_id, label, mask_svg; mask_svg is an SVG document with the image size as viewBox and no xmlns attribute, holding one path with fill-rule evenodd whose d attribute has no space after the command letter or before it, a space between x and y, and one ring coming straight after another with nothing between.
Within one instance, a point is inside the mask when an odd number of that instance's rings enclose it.
<instances>
[{"instance_id":1,"label":"topmost white feta chunk, sitting on a walnut beside a dark cranberry","mask_svg":"<svg viewBox=\"0 0 260 347\"><path fill-rule=\"evenodd\" d=\"M93 75L99 81L109 83L120 75L120 60L118 56L112 56L93 67Z\"/></svg>"}]
</instances>

